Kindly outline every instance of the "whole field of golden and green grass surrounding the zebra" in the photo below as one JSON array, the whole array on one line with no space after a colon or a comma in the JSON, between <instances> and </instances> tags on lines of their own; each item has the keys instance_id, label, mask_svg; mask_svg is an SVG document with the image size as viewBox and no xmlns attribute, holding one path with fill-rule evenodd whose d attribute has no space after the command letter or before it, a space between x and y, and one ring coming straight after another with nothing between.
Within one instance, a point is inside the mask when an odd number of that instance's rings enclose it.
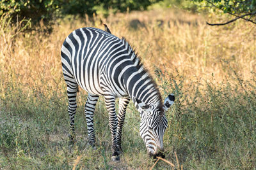
<instances>
[{"instance_id":1,"label":"whole field of golden and green grass surrounding the zebra","mask_svg":"<svg viewBox=\"0 0 256 170\"><path fill-rule=\"evenodd\" d=\"M218 22L217 18L208 16L207 21ZM166 113L166 160L176 169L255 169L256 25L239 21L211 27L205 19L186 11L152 10L101 20L136 48L163 97L175 94L175 104ZM51 34L39 27L19 33L19 24L11 26L1 18L0 169L153 166L140 138L140 115L132 103L120 162L111 162L108 113L102 97L95 111L97 149L88 146L83 90L77 96L77 144L68 146L60 49L70 32L86 26L103 29L100 17L69 17L57 22ZM159 160L154 169L172 167Z\"/></svg>"}]
</instances>

